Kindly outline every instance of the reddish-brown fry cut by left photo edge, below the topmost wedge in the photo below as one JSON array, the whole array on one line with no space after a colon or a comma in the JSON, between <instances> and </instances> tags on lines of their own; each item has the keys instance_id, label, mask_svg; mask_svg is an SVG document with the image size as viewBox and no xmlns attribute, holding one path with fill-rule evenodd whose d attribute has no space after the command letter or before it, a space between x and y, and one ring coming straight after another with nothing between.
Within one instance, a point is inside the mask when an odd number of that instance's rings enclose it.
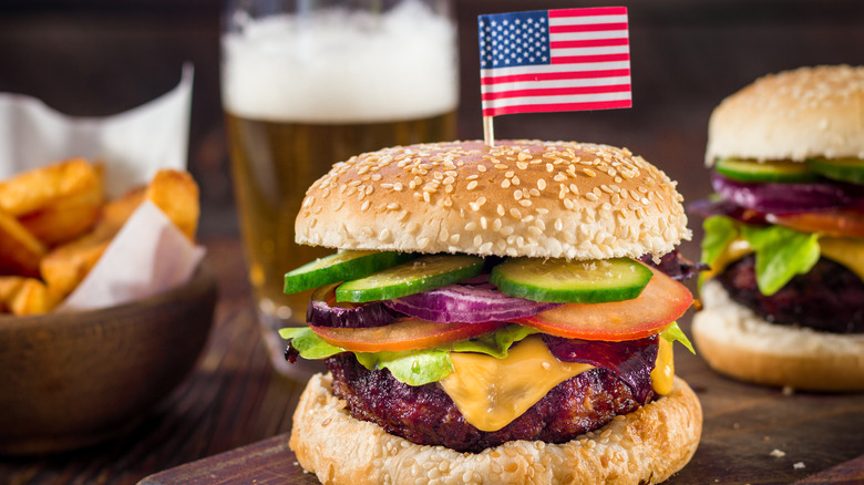
<instances>
[{"instance_id":1,"label":"reddish-brown fry cut by left photo edge, below the topmost wedge","mask_svg":"<svg viewBox=\"0 0 864 485\"><path fill-rule=\"evenodd\" d=\"M0 210L0 275L39 276L45 246L21 223Z\"/></svg>"}]
</instances>

